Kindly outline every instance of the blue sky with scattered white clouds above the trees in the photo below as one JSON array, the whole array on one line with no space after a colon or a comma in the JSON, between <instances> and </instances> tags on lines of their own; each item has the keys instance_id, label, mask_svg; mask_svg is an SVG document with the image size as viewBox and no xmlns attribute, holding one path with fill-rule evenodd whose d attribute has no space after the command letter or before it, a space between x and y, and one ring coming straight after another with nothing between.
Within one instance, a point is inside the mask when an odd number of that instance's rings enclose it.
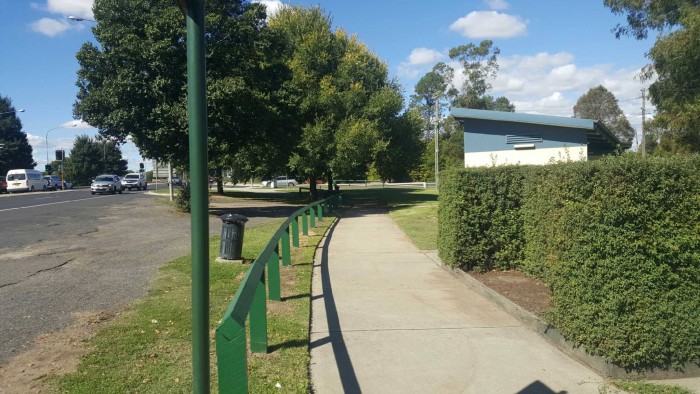
<instances>
[{"instance_id":1,"label":"blue sky with scattered white clouds above the trees","mask_svg":"<svg viewBox=\"0 0 700 394\"><path fill-rule=\"evenodd\" d=\"M269 10L282 4L261 2ZM576 100L602 84L620 100L632 125L641 127L640 89L648 82L635 77L647 64L644 54L653 41L616 39L610 30L624 18L613 15L602 0L283 3L320 5L336 28L356 34L387 63L406 96L436 62L449 63L450 48L491 39L501 49L492 94L508 97L516 111L571 116ZM25 109L18 116L34 148L37 169L43 169L47 131L49 152L69 150L78 135L96 135L94 128L72 119L75 53L92 38L92 23L67 19L92 19L92 1L0 0L0 7L5 16L0 24L0 95ZM457 67L455 71L459 74ZM647 103L648 113L650 109ZM137 169L138 149L126 144L122 152L129 168ZM150 167L147 163L146 169Z\"/></svg>"}]
</instances>

